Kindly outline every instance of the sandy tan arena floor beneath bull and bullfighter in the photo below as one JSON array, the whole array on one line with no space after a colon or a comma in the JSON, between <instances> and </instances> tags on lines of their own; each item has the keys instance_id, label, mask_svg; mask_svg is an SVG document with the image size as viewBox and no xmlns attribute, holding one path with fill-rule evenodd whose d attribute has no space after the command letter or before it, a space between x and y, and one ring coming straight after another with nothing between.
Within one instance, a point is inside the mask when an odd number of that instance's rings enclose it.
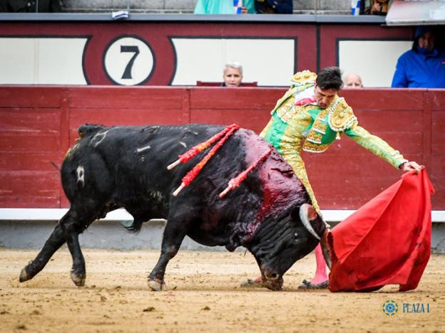
<instances>
[{"instance_id":1,"label":"sandy tan arena floor beneath bull and bullfighter","mask_svg":"<svg viewBox=\"0 0 445 333\"><path fill-rule=\"evenodd\" d=\"M240 288L259 272L250 253L180 251L165 275L170 291L151 292L158 251L84 249L85 287L71 282L66 248L19 283L36 253L0 248L1 332L445 332L445 255L431 257L417 290L331 293L297 290L313 273L313 255L285 275L285 291L272 292ZM387 300L397 302L394 317L382 311ZM429 313L403 312L404 303L429 305Z\"/></svg>"}]
</instances>

